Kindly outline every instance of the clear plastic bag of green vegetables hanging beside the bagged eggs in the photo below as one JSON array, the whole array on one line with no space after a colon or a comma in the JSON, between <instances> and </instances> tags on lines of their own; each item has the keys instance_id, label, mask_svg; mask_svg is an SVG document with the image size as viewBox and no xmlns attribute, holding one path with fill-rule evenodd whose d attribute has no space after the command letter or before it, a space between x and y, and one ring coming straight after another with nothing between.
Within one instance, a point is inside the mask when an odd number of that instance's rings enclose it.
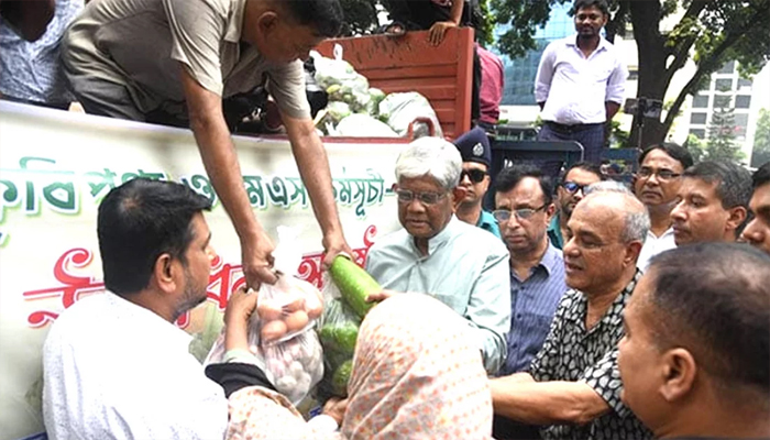
<instances>
[{"instance_id":1,"label":"clear plastic bag of green vegetables hanging beside the bagged eggs","mask_svg":"<svg viewBox=\"0 0 770 440\"><path fill-rule=\"evenodd\" d=\"M323 346L324 374L318 384L318 395L323 399L345 397L361 318L342 300L328 272L323 274L323 304L317 331Z\"/></svg>"}]
</instances>

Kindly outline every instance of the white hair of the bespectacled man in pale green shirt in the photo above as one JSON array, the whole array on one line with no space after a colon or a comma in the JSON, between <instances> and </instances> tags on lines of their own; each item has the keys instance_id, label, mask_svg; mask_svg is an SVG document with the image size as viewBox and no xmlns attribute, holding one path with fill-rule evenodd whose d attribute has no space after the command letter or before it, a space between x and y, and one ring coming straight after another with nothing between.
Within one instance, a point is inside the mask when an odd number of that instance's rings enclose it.
<instances>
[{"instance_id":1,"label":"white hair of the bespectacled man in pale green shirt","mask_svg":"<svg viewBox=\"0 0 770 440\"><path fill-rule=\"evenodd\" d=\"M402 177L430 176L447 190L460 184L462 157L458 147L441 138L420 138L406 147L396 161L396 180Z\"/></svg>"}]
</instances>

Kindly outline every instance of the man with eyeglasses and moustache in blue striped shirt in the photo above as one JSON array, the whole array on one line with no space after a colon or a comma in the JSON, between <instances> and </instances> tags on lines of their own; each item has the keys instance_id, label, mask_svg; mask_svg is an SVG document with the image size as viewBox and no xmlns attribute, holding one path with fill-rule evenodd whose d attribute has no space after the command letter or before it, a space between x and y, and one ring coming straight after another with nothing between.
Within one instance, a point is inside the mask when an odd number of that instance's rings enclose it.
<instances>
[{"instance_id":1,"label":"man with eyeglasses and moustache in blue striped shirt","mask_svg":"<svg viewBox=\"0 0 770 440\"><path fill-rule=\"evenodd\" d=\"M546 233L556 212L553 185L536 167L512 166L495 178L495 219L510 254L510 333L501 375L527 371L566 292L564 260ZM493 437L538 438L538 427L495 417Z\"/></svg>"}]
</instances>

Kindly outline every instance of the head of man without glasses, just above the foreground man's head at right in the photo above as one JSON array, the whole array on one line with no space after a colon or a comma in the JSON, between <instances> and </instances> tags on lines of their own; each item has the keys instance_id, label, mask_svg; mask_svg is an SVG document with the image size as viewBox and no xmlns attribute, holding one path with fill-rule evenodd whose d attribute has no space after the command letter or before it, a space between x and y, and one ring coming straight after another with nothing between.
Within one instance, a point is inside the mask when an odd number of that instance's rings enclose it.
<instances>
[{"instance_id":1,"label":"head of man without glasses, just above the foreground man's head at right","mask_svg":"<svg viewBox=\"0 0 770 440\"><path fill-rule=\"evenodd\" d=\"M748 221L751 174L733 162L701 162L682 174L678 199L671 211L678 246L736 241Z\"/></svg>"}]
</instances>

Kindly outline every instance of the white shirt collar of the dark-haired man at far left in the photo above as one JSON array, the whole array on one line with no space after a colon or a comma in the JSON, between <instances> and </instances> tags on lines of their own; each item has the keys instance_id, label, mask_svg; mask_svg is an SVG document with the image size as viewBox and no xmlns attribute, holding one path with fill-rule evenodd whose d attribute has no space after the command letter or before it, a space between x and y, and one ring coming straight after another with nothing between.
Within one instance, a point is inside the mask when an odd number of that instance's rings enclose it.
<instances>
[{"instance_id":1,"label":"white shirt collar of the dark-haired man at far left","mask_svg":"<svg viewBox=\"0 0 770 440\"><path fill-rule=\"evenodd\" d=\"M125 317L127 321L131 322L131 326L134 326L138 332L152 336L155 341L161 339L162 341L158 342L168 344L168 346L180 346L189 350L193 337L186 331L166 321L154 311L138 306L117 294L106 292L105 296L107 304L118 311L121 317Z\"/></svg>"}]
</instances>

